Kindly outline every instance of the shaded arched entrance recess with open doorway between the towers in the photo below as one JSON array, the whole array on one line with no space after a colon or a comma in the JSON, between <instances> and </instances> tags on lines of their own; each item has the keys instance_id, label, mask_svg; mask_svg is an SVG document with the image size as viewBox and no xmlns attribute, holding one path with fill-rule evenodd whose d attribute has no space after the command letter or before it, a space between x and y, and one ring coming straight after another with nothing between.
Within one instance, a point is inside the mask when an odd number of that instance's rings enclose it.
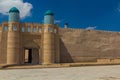
<instances>
[{"instance_id":1,"label":"shaded arched entrance recess with open doorway between the towers","mask_svg":"<svg viewBox=\"0 0 120 80\"><path fill-rule=\"evenodd\" d=\"M36 43L28 41L23 48L25 64L40 64L40 47Z\"/></svg>"}]
</instances>

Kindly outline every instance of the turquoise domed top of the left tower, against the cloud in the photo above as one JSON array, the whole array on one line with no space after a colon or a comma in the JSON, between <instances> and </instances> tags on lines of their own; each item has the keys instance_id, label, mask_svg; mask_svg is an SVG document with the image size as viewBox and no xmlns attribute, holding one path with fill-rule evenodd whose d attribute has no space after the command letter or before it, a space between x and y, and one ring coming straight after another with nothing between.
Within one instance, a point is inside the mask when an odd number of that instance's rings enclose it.
<instances>
[{"instance_id":1,"label":"turquoise domed top of the left tower, against the cloud","mask_svg":"<svg viewBox=\"0 0 120 80\"><path fill-rule=\"evenodd\" d=\"M19 13L16 7L12 7L9 10L9 22L19 22Z\"/></svg>"}]
</instances>

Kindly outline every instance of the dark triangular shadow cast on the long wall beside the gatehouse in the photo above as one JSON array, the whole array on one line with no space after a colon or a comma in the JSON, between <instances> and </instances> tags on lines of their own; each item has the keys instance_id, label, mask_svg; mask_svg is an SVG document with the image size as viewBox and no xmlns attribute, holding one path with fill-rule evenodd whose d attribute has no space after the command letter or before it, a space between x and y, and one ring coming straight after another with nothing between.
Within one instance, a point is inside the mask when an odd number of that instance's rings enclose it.
<instances>
[{"instance_id":1,"label":"dark triangular shadow cast on the long wall beside the gatehouse","mask_svg":"<svg viewBox=\"0 0 120 80\"><path fill-rule=\"evenodd\" d=\"M60 63L72 63L74 62L64 42L60 39Z\"/></svg>"}]
</instances>

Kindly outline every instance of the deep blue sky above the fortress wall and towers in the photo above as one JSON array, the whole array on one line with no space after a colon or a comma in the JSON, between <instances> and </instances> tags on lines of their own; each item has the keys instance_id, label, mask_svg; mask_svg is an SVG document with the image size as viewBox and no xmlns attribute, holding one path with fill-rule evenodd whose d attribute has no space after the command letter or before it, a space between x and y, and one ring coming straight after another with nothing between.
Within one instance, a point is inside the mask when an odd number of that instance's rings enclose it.
<instances>
[{"instance_id":1,"label":"deep blue sky above the fortress wall and towers","mask_svg":"<svg viewBox=\"0 0 120 80\"><path fill-rule=\"evenodd\" d=\"M32 4L31 15L21 22L43 21L44 13L52 10L55 20L63 27L68 22L71 28L120 31L120 0L23 0ZM7 16L0 14L0 22Z\"/></svg>"}]
</instances>

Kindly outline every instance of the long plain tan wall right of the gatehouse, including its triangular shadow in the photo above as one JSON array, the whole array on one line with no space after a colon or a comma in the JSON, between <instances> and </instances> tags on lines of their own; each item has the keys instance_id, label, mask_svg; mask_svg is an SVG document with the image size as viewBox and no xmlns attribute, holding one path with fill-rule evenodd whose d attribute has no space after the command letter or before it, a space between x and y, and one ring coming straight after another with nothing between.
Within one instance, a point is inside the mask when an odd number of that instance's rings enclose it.
<instances>
[{"instance_id":1,"label":"long plain tan wall right of the gatehouse, including its triangular shadow","mask_svg":"<svg viewBox=\"0 0 120 80\"><path fill-rule=\"evenodd\" d=\"M120 33L60 29L61 62L100 62L120 58Z\"/></svg>"}]
</instances>

